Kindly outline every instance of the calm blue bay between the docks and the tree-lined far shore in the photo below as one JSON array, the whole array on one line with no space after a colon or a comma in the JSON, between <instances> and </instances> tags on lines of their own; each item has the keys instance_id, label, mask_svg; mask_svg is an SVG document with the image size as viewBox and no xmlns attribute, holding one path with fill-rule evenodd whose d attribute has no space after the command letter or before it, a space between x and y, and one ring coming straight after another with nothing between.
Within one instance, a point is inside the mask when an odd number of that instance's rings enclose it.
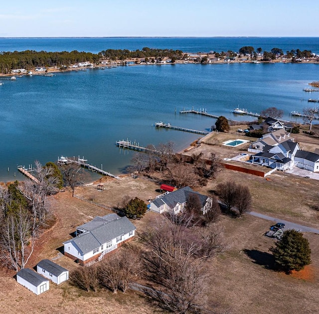
<instances>
[{"instance_id":1,"label":"calm blue bay between the docks and the tree-lined far shore","mask_svg":"<svg viewBox=\"0 0 319 314\"><path fill-rule=\"evenodd\" d=\"M0 181L22 179L17 165L34 164L35 159L44 164L61 155L84 156L121 173L134 153L124 154L115 142L127 138L141 145L173 141L176 150L182 149L199 136L156 130L152 124L163 121L205 130L215 123L207 117L180 115L183 108L243 119L230 110L260 112L275 106L289 119L291 111L308 106L310 95L303 88L318 80L318 74L316 64L175 64L2 81Z\"/></svg>"}]
</instances>

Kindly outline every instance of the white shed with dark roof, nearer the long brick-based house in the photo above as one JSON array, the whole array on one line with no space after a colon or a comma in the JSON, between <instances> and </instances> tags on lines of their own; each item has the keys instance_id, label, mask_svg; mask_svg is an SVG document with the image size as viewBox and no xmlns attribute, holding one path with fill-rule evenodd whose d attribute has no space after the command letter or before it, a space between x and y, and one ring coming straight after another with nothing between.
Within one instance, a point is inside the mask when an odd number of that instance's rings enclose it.
<instances>
[{"instance_id":1,"label":"white shed with dark roof, nearer the long brick-based house","mask_svg":"<svg viewBox=\"0 0 319 314\"><path fill-rule=\"evenodd\" d=\"M36 265L36 271L57 285L69 279L69 271L50 260L42 260Z\"/></svg>"}]
</instances>

